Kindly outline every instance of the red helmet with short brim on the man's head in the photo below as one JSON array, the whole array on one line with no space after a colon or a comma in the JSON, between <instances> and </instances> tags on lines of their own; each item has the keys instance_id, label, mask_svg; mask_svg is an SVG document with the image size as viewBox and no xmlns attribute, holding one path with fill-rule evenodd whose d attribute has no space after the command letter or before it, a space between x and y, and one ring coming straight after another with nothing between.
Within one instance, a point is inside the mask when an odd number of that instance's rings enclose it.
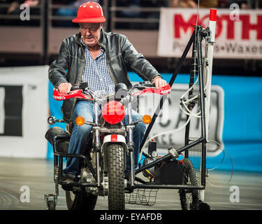
<instances>
[{"instance_id":1,"label":"red helmet with short brim on the man's head","mask_svg":"<svg viewBox=\"0 0 262 224\"><path fill-rule=\"evenodd\" d=\"M99 3L88 1L78 8L78 15L72 22L105 22L103 9Z\"/></svg>"}]
</instances>

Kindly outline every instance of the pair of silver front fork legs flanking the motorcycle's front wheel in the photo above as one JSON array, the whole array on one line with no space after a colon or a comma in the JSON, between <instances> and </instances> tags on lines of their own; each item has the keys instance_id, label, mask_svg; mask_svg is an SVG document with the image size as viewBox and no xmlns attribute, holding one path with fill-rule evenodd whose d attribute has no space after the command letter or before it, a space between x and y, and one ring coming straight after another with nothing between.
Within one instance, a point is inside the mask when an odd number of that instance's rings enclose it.
<instances>
[{"instance_id":1,"label":"pair of silver front fork legs flanking the motorcycle's front wheel","mask_svg":"<svg viewBox=\"0 0 262 224\"><path fill-rule=\"evenodd\" d=\"M127 118L128 123L132 123L132 104L129 102L127 106ZM101 141L100 141L100 127L99 127L99 104L97 102L94 102L94 115L95 120L94 123L96 123L96 127L94 127L94 151L96 152L96 176L97 176L97 186L101 187L101 169L100 169L100 163L101 163ZM128 134L128 154L129 154L129 181L131 188L134 187L134 181L135 181L135 161L134 161L134 143L133 143L133 128L134 125L127 125L126 130ZM125 166L126 167L126 166Z\"/></svg>"}]
</instances>

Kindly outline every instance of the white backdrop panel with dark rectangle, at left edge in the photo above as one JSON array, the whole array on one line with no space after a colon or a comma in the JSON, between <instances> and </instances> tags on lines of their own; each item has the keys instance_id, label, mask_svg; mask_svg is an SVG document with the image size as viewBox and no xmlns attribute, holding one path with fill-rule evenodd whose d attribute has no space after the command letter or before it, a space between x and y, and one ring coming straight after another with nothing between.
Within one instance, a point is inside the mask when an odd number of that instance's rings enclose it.
<instances>
[{"instance_id":1,"label":"white backdrop panel with dark rectangle, at left edge","mask_svg":"<svg viewBox=\"0 0 262 224\"><path fill-rule=\"evenodd\" d=\"M0 68L0 156L46 158L45 132L48 130L47 118L49 114L48 67ZM5 134L4 132L5 120L12 120L12 116L7 118L4 108L7 102L5 90L8 86L17 86L20 89L22 87L22 134L20 136L12 136L12 134ZM19 97L21 96L17 95L17 98ZM16 108L15 104L16 102L11 104L9 102L8 110L12 111L10 105ZM21 123L21 119L19 122ZM15 132L18 125L12 123L11 126L8 129Z\"/></svg>"}]
</instances>

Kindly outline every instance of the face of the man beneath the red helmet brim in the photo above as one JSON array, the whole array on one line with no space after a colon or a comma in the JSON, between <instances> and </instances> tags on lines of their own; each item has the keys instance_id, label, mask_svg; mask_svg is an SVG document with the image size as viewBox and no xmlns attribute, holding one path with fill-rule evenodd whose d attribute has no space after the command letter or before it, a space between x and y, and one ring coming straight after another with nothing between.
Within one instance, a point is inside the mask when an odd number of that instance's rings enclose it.
<instances>
[{"instance_id":1,"label":"face of the man beneath the red helmet brim","mask_svg":"<svg viewBox=\"0 0 262 224\"><path fill-rule=\"evenodd\" d=\"M101 23L80 23L82 41L89 47L96 45L99 42L101 29Z\"/></svg>"}]
</instances>

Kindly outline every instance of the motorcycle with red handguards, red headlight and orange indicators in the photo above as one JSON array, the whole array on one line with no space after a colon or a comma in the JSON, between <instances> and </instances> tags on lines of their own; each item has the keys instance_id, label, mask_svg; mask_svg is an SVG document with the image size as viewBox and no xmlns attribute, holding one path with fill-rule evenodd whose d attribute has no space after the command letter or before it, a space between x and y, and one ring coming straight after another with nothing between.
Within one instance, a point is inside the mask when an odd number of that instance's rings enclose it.
<instances>
[{"instance_id":1,"label":"motorcycle with red handguards, red headlight and orange indicators","mask_svg":"<svg viewBox=\"0 0 262 224\"><path fill-rule=\"evenodd\" d=\"M94 102L95 119L94 123L82 117L75 119L76 125L92 125L92 132L83 155L68 153L72 124L67 124L66 130L51 127L45 134L45 138L53 146L55 183L55 193L45 195L47 209L55 209L60 184L61 188L66 190L66 204L69 210L94 209L98 196L106 195L108 195L109 210L124 210L125 193L132 193L136 179L133 128L140 122L149 124L152 120L150 116L145 115L142 120L133 121L133 103L140 94L166 95L170 91L170 85L157 89L149 82L140 82L133 85L130 90L124 83L119 83L115 85L115 94L110 95L92 92L86 83L73 86L68 94L54 89L53 97L56 100L78 98ZM101 113L99 113L99 106L101 106ZM124 123L126 114L127 124ZM54 125L64 123L64 120L51 116L48 118L48 123ZM80 159L80 174L73 182L67 183L62 179L63 158ZM127 162L129 162L129 176L124 175Z\"/></svg>"}]
</instances>

